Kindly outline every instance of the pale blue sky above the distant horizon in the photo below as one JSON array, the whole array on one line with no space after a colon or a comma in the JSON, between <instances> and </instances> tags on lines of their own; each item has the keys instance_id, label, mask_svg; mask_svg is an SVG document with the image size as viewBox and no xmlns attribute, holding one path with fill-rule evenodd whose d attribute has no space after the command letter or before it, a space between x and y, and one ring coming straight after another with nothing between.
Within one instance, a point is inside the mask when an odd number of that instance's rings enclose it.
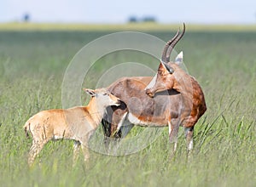
<instances>
[{"instance_id":1,"label":"pale blue sky above the distant horizon","mask_svg":"<svg viewBox=\"0 0 256 187\"><path fill-rule=\"evenodd\" d=\"M255 24L255 0L1 0L0 22L125 23L154 16L160 23Z\"/></svg>"}]
</instances>

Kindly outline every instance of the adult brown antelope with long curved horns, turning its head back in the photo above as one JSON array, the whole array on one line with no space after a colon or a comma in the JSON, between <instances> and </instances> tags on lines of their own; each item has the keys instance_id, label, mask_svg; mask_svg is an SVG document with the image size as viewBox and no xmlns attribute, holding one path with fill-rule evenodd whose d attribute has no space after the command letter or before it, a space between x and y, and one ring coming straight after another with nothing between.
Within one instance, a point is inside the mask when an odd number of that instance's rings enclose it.
<instances>
[{"instance_id":1,"label":"adult brown antelope with long curved horns, turning its head back","mask_svg":"<svg viewBox=\"0 0 256 187\"><path fill-rule=\"evenodd\" d=\"M199 83L178 66L183 54L179 54L175 62L169 62L172 48L183 37L184 31L183 25L183 32L177 31L176 36L166 43L156 77L123 77L108 87L109 92L124 103L107 108L108 113L102 120L106 145L109 136L123 138L134 125L168 126L175 151L178 128L182 126L188 150L192 150L195 123L207 106ZM113 134L114 131L117 133Z\"/></svg>"}]
</instances>

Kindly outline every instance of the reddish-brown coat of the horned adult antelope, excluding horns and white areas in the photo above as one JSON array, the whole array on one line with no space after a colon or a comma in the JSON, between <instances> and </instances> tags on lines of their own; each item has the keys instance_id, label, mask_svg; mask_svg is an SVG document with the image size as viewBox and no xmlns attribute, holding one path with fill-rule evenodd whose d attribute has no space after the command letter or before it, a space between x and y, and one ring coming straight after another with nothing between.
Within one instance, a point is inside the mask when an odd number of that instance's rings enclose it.
<instances>
[{"instance_id":1,"label":"reddish-brown coat of the horned adult antelope, excluding horns and white areas","mask_svg":"<svg viewBox=\"0 0 256 187\"><path fill-rule=\"evenodd\" d=\"M129 112L142 122L137 124L140 126L145 126L143 124L145 122L150 123L149 126L166 127L170 122L169 136L174 142L177 141L178 127L184 127L189 144L193 137L195 123L207 110L207 106L204 94L195 78L190 77L178 66L174 66L177 79L168 82L165 77L163 79L165 88L154 93L154 97L148 97L149 90L146 92L144 90L153 77L123 77L108 87L112 94L124 101L124 104L119 107L108 107L108 115L103 120L103 125L111 124L111 129L108 130L112 133L108 133L108 136L119 138L126 135L127 132L122 134L122 129L117 133L113 132L116 132L125 112ZM159 72L162 73L160 70ZM167 75L167 72L163 75ZM183 76L184 78L181 78ZM168 83L172 83L172 88L167 88ZM107 140L106 144L108 145Z\"/></svg>"}]
</instances>

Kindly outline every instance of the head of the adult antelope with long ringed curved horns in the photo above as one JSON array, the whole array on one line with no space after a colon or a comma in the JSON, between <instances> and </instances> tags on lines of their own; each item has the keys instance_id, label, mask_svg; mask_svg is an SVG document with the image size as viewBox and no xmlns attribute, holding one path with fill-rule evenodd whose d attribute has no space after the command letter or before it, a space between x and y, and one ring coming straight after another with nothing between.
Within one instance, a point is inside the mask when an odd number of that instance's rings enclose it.
<instances>
[{"instance_id":1,"label":"head of the adult antelope with long ringed curved horns","mask_svg":"<svg viewBox=\"0 0 256 187\"><path fill-rule=\"evenodd\" d=\"M170 62L170 56L172 53L172 49L175 47L177 42L183 37L185 33L185 24L183 24L183 32L177 34L172 40L166 42L166 46L163 50L163 54L161 57L161 62L157 71L156 80L154 82L154 86L146 89L146 94L149 97L154 97L154 94L167 90L167 89L175 89L177 92L180 92L180 85L178 83L177 78L183 77L185 71L183 71L179 67L179 63L183 59L183 53L177 55L175 62Z\"/></svg>"}]
</instances>

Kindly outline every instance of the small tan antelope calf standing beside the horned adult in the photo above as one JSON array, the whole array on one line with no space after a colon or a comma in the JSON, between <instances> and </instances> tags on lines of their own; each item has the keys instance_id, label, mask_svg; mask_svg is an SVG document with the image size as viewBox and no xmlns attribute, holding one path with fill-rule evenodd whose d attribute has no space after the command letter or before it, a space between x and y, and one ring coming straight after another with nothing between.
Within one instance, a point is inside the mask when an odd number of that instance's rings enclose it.
<instances>
[{"instance_id":1,"label":"small tan antelope calf standing beside the horned adult","mask_svg":"<svg viewBox=\"0 0 256 187\"><path fill-rule=\"evenodd\" d=\"M110 94L106 88L84 89L92 98L87 106L70 109L54 109L40 111L32 116L25 124L26 136L32 134L32 147L29 151L28 163L32 165L35 157L51 139L73 139L74 157L79 154L80 145L84 152L84 161L89 159L88 141L102 121L109 105L119 106L119 98Z\"/></svg>"}]
</instances>

